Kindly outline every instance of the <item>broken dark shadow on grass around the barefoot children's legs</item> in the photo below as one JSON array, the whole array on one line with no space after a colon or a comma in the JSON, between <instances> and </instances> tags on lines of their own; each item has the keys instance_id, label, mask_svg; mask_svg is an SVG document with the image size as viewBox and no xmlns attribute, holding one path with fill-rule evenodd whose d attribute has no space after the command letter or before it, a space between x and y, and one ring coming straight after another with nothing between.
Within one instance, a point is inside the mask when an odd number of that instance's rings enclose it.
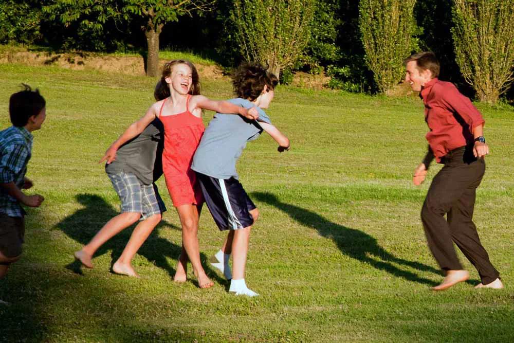
<instances>
[{"instance_id":1,"label":"broken dark shadow on grass around the barefoot children's legs","mask_svg":"<svg viewBox=\"0 0 514 343\"><path fill-rule=\"evenodd\" d=\"M111 220L114 216L119 214L113 206L109 205L103 198L96 194L78 194L76 195L77 201L84 206L84 208L77 210L75 213L67 216L63 221L58 223L55 228L64 231L68 237L86 245L95 236L95 234L102 228L102 226ZM164 215L166 215L165 212ZM126 228L118 233L116 236L105 242L95 253L94 257L101 256L111 250L111 268L114 262L118 260L125 248L126 243L130 239L133 231L134 224L130 228ZM164 269L168 272L170 277L175 275L174 266L170 265L167 257L173 261L177 261L182 250L180 245L174 244L167 239L158 236L159 230L171 227L175 230L181 230L180 227L173 225L165 220L155 227L148 239L137 251L138 255L145 257L149 262L154 263L157 267ZM205 272L211 279L215 279L218 283L224 285L227 283L225 279L219 277L211 269L206 268L207 257L205 254L200 253L200 260L205 268ZM77 274L82 275L82 265L79 261L75 260L66 266ZM189 279L191 281L191 279ZM196 282L196 281L195 281Z\"/></svg>"}]
</instances>

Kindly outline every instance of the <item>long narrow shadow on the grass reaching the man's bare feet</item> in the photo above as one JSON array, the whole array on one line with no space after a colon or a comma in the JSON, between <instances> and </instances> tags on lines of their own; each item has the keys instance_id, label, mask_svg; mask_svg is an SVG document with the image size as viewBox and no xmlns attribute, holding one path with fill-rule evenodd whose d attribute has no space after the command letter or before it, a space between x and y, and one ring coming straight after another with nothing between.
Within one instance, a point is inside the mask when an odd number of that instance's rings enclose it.
<instances>
[{"instance_id":1,"label":"long narrow shadow on the grass reaching the man's bare feet","mask_svg":"<svg viewBox=\"0 0 514 343\"><path fill-rule=\"evenodd\" d=\"M415 281L430 286L437 284L432 280L419 277L408 270L402 270L393 265L393 263L411 267L422 272L432 272L440 275L441 272L438 269L392 255L378 245L377 240L368 233L331 222L313 211L283 203L272 193L253 192L251 195L256 200L274 206L284 213L287 213L300 224L315 228L321 236L332 239L337 244L339 250L346 256L368 263L377 269L385 270L394 276L409 281Z\"/></svg>"}]
</instances>

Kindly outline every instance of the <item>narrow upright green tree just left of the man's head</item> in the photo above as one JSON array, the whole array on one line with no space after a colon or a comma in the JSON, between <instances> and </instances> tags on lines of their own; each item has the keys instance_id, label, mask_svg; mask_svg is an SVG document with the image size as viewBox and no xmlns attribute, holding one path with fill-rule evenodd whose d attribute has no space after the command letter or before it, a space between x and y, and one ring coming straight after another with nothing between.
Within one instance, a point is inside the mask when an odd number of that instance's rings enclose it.
<instances>
[{"instance_id":1,"label":"narrow upright green tree just left of the man's head","mask_svg":"<svg viewBox=\"0 0 514 343\"><path fill-rule=\"evenodd\" d=\"M361 0L359 22L366 62L381 93L402 78L403 59L412 51L416 0Z\"/></svg>"}]
</instances>

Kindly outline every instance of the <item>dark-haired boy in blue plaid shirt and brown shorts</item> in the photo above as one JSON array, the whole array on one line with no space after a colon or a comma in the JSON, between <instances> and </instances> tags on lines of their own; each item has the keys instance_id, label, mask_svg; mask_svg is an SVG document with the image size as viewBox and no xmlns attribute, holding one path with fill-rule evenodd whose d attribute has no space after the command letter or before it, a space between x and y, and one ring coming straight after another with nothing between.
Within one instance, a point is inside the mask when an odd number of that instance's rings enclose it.
<instances>
[{"instance_id":1,"label":"dark-haired boy in blue plaid shirt and brown shorts","mask_svg":"<svg viewBox=\"0 0 514 343\"><path fill-rule=\"evenodd\" d=\"M45 99L37 89L24 87L9 99L12 126L0 131L0 279L22 255L25 211L20 203L39 207L44 200L39 194L22 192L32 187L25 177L32 150L31 132L41 129L46 118Z\"/></svg>"}]
</instances>

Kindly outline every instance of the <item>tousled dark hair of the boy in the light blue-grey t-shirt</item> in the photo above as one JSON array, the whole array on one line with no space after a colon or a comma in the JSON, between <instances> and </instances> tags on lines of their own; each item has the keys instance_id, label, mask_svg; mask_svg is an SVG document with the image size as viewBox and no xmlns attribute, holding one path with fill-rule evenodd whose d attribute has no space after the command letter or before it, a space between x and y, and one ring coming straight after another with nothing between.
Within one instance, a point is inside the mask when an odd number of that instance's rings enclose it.
<instances>
[{"instance_id":1,"label":"tousled dark hair of the boy in the light blue-grey t-shirt","mask_svg":"<svg viewBox=\"0 0 514 343\"><path fill-rule=\"evenodd\" d=\"M262 64L245 62L241 64L232 75L234 93L243 99L253 101L261 95L264 86L268 92L273 91L279 84L279 79L268 71Z\"/></svg>"}]
</instances>

